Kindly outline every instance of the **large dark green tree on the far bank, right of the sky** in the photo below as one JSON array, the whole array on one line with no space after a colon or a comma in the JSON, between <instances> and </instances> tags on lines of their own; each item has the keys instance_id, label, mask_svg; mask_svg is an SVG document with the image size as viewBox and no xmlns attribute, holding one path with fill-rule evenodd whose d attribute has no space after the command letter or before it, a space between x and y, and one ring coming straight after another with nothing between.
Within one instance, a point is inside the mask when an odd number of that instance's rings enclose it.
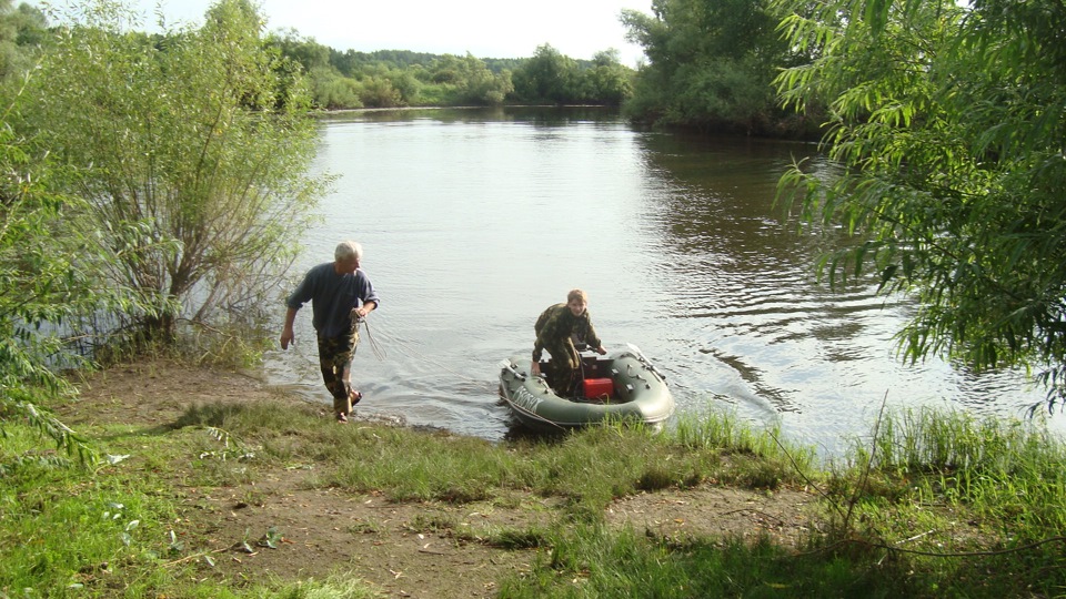
<instances>
[{"instance_id":1,"label":"large dark green tree on the far bank, right of the sky","mask_svg":"<svg viewBox=\"0 0 1066 599\"><path fill-rule=\"evenodd\" d=\"M778 40L767 2L656 0L652 12L623 11L628 37L650 60L626 114L704 131L811 133L777 106L774 74L797 57Z\"/></svg>"}]
</instances>

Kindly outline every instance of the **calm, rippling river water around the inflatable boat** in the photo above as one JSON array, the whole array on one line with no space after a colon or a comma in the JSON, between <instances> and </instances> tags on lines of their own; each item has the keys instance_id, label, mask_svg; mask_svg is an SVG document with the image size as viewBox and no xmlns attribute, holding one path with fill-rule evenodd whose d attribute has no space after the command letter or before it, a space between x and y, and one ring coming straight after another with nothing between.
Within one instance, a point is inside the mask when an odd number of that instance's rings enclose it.
<instances>
[{"instance_id":1,"label":"calm, rippling river water around the inflatable boat","mask_svg":"<svg viewBox=\"0 0 1066 599\"><path fill-rule=\"evenodd\" d=\"M359 412L487 439L511 432L499 362L529 353L573 287L609 349L635 344L666 373L678 414L734 409L829 455L883 400L1003 417L1039 403L1019 373L903 365L909 304L815 281L824 236L773 206L803 158L832 176L812 144L641 131L600 109L333 115L316 169L339 179L292 275L361 242L382 303L354 361ZM310 321L266 356L268 380L329 404Z\"/></svg>"}]
</instances>

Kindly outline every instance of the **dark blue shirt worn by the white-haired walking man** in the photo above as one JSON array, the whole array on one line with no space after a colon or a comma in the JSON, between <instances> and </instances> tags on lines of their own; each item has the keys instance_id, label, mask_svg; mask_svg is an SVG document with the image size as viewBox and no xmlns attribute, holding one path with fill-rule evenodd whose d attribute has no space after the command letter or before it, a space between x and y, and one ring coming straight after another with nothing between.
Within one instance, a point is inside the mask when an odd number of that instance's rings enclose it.
<instances>
[{"instance_id":1,"label":"dark blue shirt worn by the white-haired walking man","mask_svg":"<svg viewBox=\"0 0 1066 599\"><path fill-rule=\"evenodd\" d=\"M361 303L381 303L366 273L356 270L354 274L336 274L332 262L319 264L308 271L285 305L300 309L309 301L311 324L319 338L346 334L352 328L352 309L358 308Z\"/></svg>"}]
</instances>

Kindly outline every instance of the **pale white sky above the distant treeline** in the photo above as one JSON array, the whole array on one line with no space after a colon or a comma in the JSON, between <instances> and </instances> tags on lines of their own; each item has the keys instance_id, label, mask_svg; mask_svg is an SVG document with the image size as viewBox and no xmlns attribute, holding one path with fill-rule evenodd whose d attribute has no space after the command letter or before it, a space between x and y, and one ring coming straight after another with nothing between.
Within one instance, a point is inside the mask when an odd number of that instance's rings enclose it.
<instances>
[{"instance_id":1,"label":"pale white sky above the distant treeline","mask_svg":"<svg viewBox=\"0 0 1066 599\"><path fill-rule=\"evenodd\" d=\"M124 0L144 16L159 3L168 22L201 22L211 0ZM614 48L635 67L641 47L625 40L623 9L650 13L652 0L259 0L269 30L295 29L335 50L413 50L477 58L527 58L551 44L573 59ZM43 0L31 4L42 4ZM51 0L62 6L62 0Z\"/></svg>"}]
</instances>

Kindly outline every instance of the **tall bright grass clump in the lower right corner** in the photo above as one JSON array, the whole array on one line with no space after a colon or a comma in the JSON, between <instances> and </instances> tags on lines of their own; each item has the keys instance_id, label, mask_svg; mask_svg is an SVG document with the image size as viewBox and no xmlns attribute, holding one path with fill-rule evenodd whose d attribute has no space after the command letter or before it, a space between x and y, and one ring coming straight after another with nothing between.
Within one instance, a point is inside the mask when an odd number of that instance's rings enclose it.
<instances>
[{"instance_id":1,"label":"tall bright grass clump in the lower right corner","mask_svg":"<svg viewBox=\"0 0 1066 599\"><path fill-rule=\"evenodd\" d=\"M836 509L811 541L907 565L931 597L1012 596L1023 587L1055 595L1066 585L1064 451L1032 422L885 414L823 485Z\"/></svg>"}]
</instances>

